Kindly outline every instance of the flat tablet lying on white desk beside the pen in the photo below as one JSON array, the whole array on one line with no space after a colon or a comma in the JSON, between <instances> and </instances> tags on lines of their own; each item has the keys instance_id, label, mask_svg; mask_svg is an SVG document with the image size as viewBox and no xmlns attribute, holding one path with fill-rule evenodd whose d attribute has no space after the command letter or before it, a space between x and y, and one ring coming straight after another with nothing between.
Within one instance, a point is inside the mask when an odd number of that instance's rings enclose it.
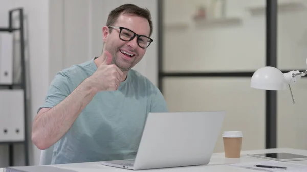
<instances>
[{"instance_id":1,"label":"flat tablet lying on white desk beside the pen","mask_svg":"<svg viewBox=\"0 0 307 172\"><path fill-rule=\"evenodd\" d=\"M264 154L247 154L248 156L257 157L257 158L265 158L275 161L302 161L307 160L307 156L299 155L299 154L291 154L284 152L277 153L264 153Z\"/></svg>"}]
</instances>

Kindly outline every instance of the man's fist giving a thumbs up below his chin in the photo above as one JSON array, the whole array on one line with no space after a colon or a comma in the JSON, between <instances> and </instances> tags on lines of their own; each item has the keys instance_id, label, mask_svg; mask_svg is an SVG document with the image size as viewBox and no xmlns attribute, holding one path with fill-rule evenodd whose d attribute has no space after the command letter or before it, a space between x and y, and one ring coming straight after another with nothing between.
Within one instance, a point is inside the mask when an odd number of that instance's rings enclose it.
<instances>
[{"instance_id":1,"label":"man's fist giving a thumbs up below his chin","mask_svg":"<svg viewBox=\"0 0 307 172\"><path fill-rule=\"evenodd\" d=\"M115 64L111 64L111 53L104 51L104 54L104 61L90 77L97 92L117 90L123 76L123 72Z\"/></svg>"}]
</instances>

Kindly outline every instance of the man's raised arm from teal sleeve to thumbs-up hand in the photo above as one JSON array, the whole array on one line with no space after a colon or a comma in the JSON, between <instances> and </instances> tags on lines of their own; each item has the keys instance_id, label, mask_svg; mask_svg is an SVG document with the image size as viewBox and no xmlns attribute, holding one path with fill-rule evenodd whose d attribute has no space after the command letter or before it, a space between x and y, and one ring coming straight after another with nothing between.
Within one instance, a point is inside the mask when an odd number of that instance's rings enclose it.
<instances>
[{"instance_id":1,"label":"man's raised arm from teal sleeve to thumbs-up hand","mask_svg":"<svg viewBox=\"0 0 307 172\"><path fill-rule=\"evenodd\" d=\"M99 57L104 59L93 75L73 91L69 89L69 77L57 75L50 86L45 108L40 109L33 121L32 142L37 148L47 149L56 143L97 92L117 90L123 73L116 65L111 65L111 53L104 51L104 56Z\"/></svg>"}]
</instances>

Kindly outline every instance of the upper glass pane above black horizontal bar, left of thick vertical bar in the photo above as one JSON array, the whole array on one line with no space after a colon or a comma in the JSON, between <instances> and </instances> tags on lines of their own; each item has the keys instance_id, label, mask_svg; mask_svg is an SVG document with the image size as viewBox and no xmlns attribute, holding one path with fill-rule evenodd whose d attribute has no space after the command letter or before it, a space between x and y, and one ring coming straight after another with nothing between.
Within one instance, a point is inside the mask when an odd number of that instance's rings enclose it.
<instances>
[{"instance_id":1,"label":"upper glass pane above black horizontal bar, left of thick vertical bar","mask_svg":"<svg viewBox=\"0 0 307 172\"><path fill-rule=\"evenodd\" d=\"M253 15L258 6L252 2L163 1L163 71L245 72L265 66L265 16Z\"/></svg>"}]
</instances>

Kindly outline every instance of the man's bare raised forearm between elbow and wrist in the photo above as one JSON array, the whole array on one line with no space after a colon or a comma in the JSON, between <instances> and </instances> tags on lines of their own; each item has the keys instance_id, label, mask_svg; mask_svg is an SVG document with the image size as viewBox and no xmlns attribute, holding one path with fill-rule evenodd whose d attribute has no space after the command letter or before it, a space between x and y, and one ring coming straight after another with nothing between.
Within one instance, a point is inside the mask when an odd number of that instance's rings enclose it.
<instances>
[{"instance_id":1,"label":"man's bare raised forearm between elbow and wrist","mask_svg":"<svg viewBox=\"0 0 307 172\"><path fill-rule=\"evenodd\" d=\"M39 113L33 122L33 143L39 149L47 149L56 143L73 125L95 94L96 90L85 80L61 103Z\"/></svg>"}]
</instances>

